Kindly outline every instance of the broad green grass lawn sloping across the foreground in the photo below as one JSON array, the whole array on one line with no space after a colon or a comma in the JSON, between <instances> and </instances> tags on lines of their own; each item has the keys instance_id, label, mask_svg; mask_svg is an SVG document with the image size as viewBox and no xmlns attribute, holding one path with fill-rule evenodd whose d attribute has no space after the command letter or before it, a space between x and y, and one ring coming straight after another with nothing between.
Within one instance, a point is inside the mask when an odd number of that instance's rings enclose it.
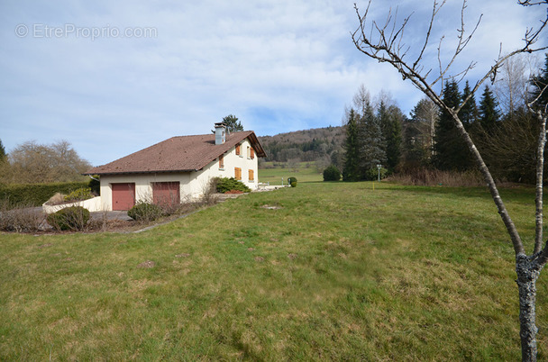
<instances>
[{"instance_id":1,"label":"broad green grass lawn sloping across the foreground","mask_svg":"<svg viewBox=\"0 0 548 362\"><path fill-rule=\"evenodd\" d=\"M139 234L0 234L0 360L518 360L486 190L372 186L302 183ZM534 191L502 194L531 240Z\"/></svg>"}]
</instances>

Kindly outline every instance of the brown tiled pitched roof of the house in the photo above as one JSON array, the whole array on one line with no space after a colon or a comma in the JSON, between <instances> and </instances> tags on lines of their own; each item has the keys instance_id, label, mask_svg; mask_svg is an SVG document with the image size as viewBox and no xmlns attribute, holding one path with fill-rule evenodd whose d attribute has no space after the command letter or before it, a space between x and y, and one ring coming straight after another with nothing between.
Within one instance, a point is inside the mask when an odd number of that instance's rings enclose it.
<instances>
[{"instance_id":1,"label":"brown tiled pitched roof of the house","mask_svg":"<svg viewBox=\"0 0 548 362\"><path fill-rule=\"evenodd\" d=\"M253 131L230 133L221 145L215 145L213 133L180 136L164 140L106 165L93 167L84 175L196 171L245 139L250 140L257 157L266 157Z\"/></svg>"}]
</instances>

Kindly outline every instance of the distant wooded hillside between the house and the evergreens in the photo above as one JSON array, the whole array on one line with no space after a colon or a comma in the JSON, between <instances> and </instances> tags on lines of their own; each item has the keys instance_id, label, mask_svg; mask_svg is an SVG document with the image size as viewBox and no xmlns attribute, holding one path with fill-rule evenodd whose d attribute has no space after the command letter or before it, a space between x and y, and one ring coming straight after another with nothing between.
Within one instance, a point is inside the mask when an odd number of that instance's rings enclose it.
<instances>
[{"instance_id":1,"label":"distant wooded hillside between the house and the evergreens","mask_svg":"<svg viewBox=\"0 0 548 362\"><path fill-rule=\"evenodd\" d=\"M267 152L265 161L320 161L337 163L342 155L344 128L325 127L259 137Z\"/></svg>"}]
</instances>

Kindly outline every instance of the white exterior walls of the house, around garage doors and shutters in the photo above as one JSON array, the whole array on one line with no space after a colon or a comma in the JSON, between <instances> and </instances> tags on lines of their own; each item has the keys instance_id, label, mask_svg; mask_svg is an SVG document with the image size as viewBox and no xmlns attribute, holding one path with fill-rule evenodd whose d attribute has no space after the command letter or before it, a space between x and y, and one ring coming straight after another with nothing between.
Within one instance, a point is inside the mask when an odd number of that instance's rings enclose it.
<instances>
[{"instance_id":1,"label":"white exterior walls of the house, around garage doors and shutters","mask_svg":"<svg viewBox=\"0 0 548 362\"><path fill-rule=\"evenodd\" d=\"M204 194L209 180L213 177L234 177L235 168L242 168L242 183L257 189L259 185L257 155L248 158L249 140L241 143L241 155L236 155L235 147L224 153L224 168L219 167L219 158L215 158L207 166L198 171L184 173L156 173L156 174L127 174L127 175L103 175L101 176L101 202L104 210L112 210L113 194L112 184L134 183L135 200L151 202L152 183L155 182L179 182L181 201L186 198L196 199ZM249 179L249 170L253 170L254 179Z\"/></svg>"}]
</instances>

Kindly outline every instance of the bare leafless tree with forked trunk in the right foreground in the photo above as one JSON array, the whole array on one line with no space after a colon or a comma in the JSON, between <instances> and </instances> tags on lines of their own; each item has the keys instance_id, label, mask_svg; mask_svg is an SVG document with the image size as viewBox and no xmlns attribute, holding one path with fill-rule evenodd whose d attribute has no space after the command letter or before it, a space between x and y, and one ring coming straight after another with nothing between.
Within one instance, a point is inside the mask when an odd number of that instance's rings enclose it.
<instances>
[{"instance_id":1,"label":"bare leafless tree with forked trunk in the right foreground","mask_svg":"<svg viewBox=\"0 0 548 362\"><path fill-rule=\"evenodd\" d=\"M456 41L456 47L452 51L452 56L447 61L446 65L443 65L442 61L442 41L437 46L438 53L438 65L439 73L433 76L431 68L425 67L425 54L427 50L432 46L431 38L433 34L434 20L440 9L445 4L445 0L441 2L434 0L434 6L428 23L428 28L425 33L425 41L422 45L407 46L404 34L406 32L406 26L409 23L410 16L407 16L401 23L397 22L396 16L390 12L386 21L377 23L375 21L368 22L368 14L370 10L370 4L367 6L365 12L361 13L356 5L354 5L356 14L358 16L359 25L355 32L352 32L352 41L356 48L360 50L366 56L377 59L379 62L386 62L392 65L404 79L410 80L419 90L427 95L438 107L447 113L450 113L452 120L455 123L459 133L466 145L470 149L474 159L476 160L477 167L481 174L484 176L485 181L489 186L489 192L493 198L493 201L497 205L498 213L504 222L507 232L512 240L514 250L516 253L516 274L519 290L519 304L520 304L520 337L522 346L522 359L525 361L536 360L536 332L538 329L535 326L535 298L536 298L536 279L540 275L540 272L546 261L548 260L548 245L543 248L543 151L546 143L546 106L534 107L539 97L529 102L529 108L535 112L539 127L539 138L537 147L537 181L536 181L536 227L535 227L535 240L533 254L527 255L525 253L524 243L521 240L519 233L516 230L516 226L510 215L507 213L507 208L502 201L498 193L497 185L489 168L486 166L483 158L479 154L474 142L470 139L470 135L464 129L464 126L459 118L459 111L462 106L466 104L470 97L478 91L486 80L490 79L492 82L496 79L499 68L504 64L507 59L521 53L532 53L540 50L545 50L546 47L538 46L536 42L541 39L541 34L547 27L548 16L543 19L537 28L527 29L524 37L523 47L508 53L506 56L498 54L498 59L495 64L485 72L484 76L476 82L475 86L471 89L470 95L464 99L459 106L450 107L443 102L442 95L434 91L436 85L443 85L445 80L459 80L467 76L470 69L476 66L476 62L471 61L469 66L461 71L454 72L453 66L455 60L458 59L462 50L470 43L473 34L477 31L479 21L472 28L472 31L465 32L464 12L467 7L466 0L463 1L461 7L461 26L458 30L458 36ZM548 5L548 0L526 0L519 1L519 5L535 6L535 5ZM443 37L442 37L443 40ZM416 50L415 54L411 54L410 51ZM414 57L411 59L410 57ZM543 92L546 92L546 86L543 87ZM541 92L542 94L542 92Z\"/></svg>"}]
</instances>

